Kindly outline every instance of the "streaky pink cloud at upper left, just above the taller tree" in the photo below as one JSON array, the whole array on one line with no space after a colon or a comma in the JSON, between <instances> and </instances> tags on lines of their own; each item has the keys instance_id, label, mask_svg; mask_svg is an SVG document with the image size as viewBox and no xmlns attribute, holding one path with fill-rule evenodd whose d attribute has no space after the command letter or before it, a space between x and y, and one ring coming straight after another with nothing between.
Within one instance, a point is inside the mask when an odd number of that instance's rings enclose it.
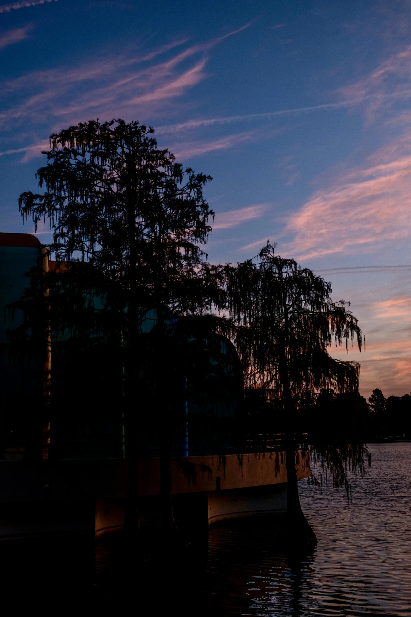
<instances>
[{"instance_id":1,"label":"streaky pink cloud at upper left, just above the taller tree","mask_svg":"<svg viewBox=\"0 0 411 617\"><path fill-rule=\"evenodd\" d=\"M149 57L169 51L165 46L152 52ZM111 57L84 64L76 69L34 72L6 83L2 94L31 93L20 104L6 109L0 115L3 123L9 120L40 120L44 114L49 117L65 117L70 122L74 114L84 110L107 113L108 117L118 114L124 107L139 104L153 104L172 97L181 96L196 85L205 75L202 72L205 59L182 71L179 65L197 52L188 48L167 62L130 72L134 64L140 65L147 56L130 59L126 56ZM121 77L120 77L121 76ZM84 82L86 90L78 94L78 86ZM104 85L102 85L104 84ZM59 104L59 102L63 104ZM67 104L67 101L68 104Z\"/></svg>"}]
</instances>

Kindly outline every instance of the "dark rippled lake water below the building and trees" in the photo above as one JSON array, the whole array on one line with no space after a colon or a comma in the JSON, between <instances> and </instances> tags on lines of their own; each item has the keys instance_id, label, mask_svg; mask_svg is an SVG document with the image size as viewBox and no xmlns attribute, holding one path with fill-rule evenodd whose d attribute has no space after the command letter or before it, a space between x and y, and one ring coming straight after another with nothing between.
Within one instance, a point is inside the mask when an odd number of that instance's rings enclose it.
<instances>
[{"instance_id":1,"label":"dark rippled lake water below the building and trees","mask_svg":"<svg viewBox=\"0 0 411 617\"><path fill-rule=\"evenodd\" d=\"M114 540L106 539L97 550L97 596L131 592L144 615L411 616L411 443L370 450L372 468L351 477L352 503L345 490L300 482L319 540L309 557L279 553L275 518L243 519L124 578L110 566Z\"/></svg>"}]
</instances>

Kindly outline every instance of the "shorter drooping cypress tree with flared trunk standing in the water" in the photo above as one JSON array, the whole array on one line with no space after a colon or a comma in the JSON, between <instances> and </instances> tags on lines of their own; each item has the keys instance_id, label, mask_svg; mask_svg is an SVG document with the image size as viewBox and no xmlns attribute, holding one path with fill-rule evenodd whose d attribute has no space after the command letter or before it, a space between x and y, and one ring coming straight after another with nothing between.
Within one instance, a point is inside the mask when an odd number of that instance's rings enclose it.
<instances>
[{"instance_id":1,"label":"shorter drooping cypress tree with flared trunk standing in the water","mask_svg":"<svg viewBox=\"0 0 411 617\"><path fill-rule=\"evenodd\" d=\"M293 259L275 254L267 244L257 260L227 268L229 310L234 321L232 337L242 358L249 387L269 391L283 413L283 439L287 466L287 523L284 533L297 545L317 540L307 523L298 496L296 452L306 442L301 413L312 406L322 389L356 392L359 365L331 357L332 342L354 341L363 336L346 304L333 302L330 283ZM324 445L324 444L322 444ZM344 456L359 459L364 448L334 450L332 470L344 475ZM320 455L323 464L327 457Z\"/></svg>"}]
</instances>

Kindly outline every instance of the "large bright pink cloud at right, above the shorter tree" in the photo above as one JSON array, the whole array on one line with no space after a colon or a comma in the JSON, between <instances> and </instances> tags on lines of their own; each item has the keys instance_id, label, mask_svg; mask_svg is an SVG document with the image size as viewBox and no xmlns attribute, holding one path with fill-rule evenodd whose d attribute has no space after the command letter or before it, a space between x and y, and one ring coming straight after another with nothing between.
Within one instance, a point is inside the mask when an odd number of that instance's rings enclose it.
<instances>
[{"instance_id":1,"label":"large bright pink cloud at right, above the shorter tree","mask_svg":"<svg viewBox=\"0 0 411 617\"><path fill-rule=\"evenodd\" d=\"M372 252L411 236L411 133L366 163L291 215L287 227L295 237L288 251L299 259Z\"/></svg>"}]
</instances>

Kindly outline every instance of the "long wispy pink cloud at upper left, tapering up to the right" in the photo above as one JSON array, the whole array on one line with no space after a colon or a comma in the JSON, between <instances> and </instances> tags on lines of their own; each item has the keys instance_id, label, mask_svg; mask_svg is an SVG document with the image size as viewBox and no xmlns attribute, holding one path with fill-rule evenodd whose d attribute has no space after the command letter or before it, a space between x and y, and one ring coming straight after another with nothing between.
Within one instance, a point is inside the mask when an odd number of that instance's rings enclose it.
<instances>
[{"instance_id":1,"label":"long wispy pink cloud at upper left, tapering up to the right","mask_svg":"<svg viewBox=\"0 0 411 617\"><path fill-rule=\"evenodd\" d=\"M160 110L176 101L206 75L208 52L227 37L248 28L251 22L204 44L188 46L165 60L178 40L146 54L96 57L78 67L35 71L1 85L0 126L15 129L37 123L47 132L56 122L79 122L89 117L136 117Z\"/></svg>"}]
</instances>

